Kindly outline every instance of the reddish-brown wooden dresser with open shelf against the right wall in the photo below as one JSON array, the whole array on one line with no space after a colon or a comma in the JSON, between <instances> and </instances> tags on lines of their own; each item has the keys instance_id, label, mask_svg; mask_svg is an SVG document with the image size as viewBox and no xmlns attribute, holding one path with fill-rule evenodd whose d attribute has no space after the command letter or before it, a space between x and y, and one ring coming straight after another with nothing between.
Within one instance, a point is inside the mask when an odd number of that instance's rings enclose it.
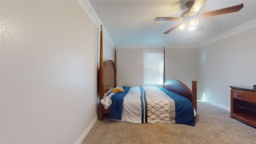
<instances>
[{"instance_id":1,"label":"reddish-brown wooden dresser with open shelf against the right wall","mask_svg":"<svg viewBox=\"0 0 256 144\"><path fill-rule=\"evenodd\" d=\"M252 86L230 86L230 118L236 118L256 127L256 88Z\"/></svg>"}]
</instances>

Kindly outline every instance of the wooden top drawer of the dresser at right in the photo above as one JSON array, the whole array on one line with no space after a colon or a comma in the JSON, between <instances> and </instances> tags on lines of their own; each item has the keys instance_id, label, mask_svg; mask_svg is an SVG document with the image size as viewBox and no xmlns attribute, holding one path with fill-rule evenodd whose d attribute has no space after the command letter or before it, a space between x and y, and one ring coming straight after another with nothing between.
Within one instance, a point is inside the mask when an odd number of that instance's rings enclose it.
<instances>
[{"instance_id":1,"label":"wooden top drawer of the dresser at right","mask_svg":"<svg viewBox=\"0 0 256 144\"><path fill-rule=\"evenodd\" d=\"M233 97L240 100L256 103L256 95L252 92L241 92L239 90L233 90Z\"/></svg>"}]
</instances>

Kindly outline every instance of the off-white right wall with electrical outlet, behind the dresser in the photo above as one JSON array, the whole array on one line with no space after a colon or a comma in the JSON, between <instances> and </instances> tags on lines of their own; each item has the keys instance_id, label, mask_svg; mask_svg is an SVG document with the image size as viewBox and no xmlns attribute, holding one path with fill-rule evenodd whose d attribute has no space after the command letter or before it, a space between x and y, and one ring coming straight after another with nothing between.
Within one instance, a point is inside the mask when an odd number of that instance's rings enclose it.
<instances>
[{"instance_id":1,"label":"off-white right wall with electrical outlet, behind the dresser","mask_svg":"<svg viewBox=\"0 0 256 144\"><path fill-rule=\"evenodd\" d=\"M254 27L198 49L198 98L230 110L229 86L256 84L255 40Z\"/></svg>"}]
</instances>

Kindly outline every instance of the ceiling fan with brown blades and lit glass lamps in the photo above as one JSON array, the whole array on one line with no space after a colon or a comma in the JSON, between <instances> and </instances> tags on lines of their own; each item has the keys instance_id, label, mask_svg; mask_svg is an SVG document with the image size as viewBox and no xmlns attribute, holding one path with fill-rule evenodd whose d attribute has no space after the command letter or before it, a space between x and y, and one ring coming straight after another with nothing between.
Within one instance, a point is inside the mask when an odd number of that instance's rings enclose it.
<instances>
[{"instance_id":1,"label":"ceiling fan with brown blades and lit glass lamps","mask_svg":"<svg viewBox=\"0 0 256 144\"><path fill-rule=\"evenodd\" d=\"M219 10L214 10L211 12L205 12L202 14L199 14L199 10L202 8L202 6L204 5L204 3L207 0L195 0L194 1L188 1L185 6L186 8L188 8L188 10L186 10L185 12L183 12L180 15L180 18L176 17L159 17L159 18L155 18L154 21L159 21L159 20L182 20L184 22L177 24L176 26L170 28L169 30L167 30L166 32L164 32L164 34L168 34L169 32L171 32L172 30L179 28L180 30L184 30L184 28L186 27L187 23L189 24L188 26L188 30L189 31L200 31L203 30L204 27L202 25L199 24L199 20L197 18L208 18L210 16L217 16L217 15L221 15L221 14L228 14L231 12L238 12L239 10L241 10L242 7L244 7L243 4L239 4L236 6L231 6L228 8L222 8Z\"/></svg>"}]
</instances>

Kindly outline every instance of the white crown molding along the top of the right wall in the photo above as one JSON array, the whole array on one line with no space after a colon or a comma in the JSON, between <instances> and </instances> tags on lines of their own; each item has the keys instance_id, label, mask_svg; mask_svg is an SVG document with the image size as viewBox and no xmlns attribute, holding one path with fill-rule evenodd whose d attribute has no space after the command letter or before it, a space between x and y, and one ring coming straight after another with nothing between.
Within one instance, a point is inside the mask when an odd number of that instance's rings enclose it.
<instances>
[{"instance_id":1,"label":"white crown molding along the top of the right wall","mask_svg":"<svg viewBox=\"0 0 256 144\"><path fill-rule=\"evenodd\" d=\"M239 26L236 26L234 28L231 28L230 30L227 30L221 34L218 34L212 38L209 38L207 40L204 40L203 42L198 43L198 48L202 47L202 46L206 46L208 44L211 44L213 42L222 40L224 38L228 38L230 36L234 36L236 34L239 34L241 32L245 32L246 30L250 30L252 28L256 28L256 18L245 22L243 24L240 24Z\"/></svg>"}]
</instances>

